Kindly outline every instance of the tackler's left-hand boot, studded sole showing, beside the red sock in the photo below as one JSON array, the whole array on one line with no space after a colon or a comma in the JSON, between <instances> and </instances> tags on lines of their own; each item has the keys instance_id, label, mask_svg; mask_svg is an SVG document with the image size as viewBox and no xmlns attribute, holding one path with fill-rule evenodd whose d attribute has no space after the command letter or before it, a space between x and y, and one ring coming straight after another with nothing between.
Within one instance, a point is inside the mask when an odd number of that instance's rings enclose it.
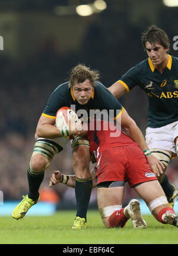
<instances>
[{"instance_id":1,"label":"tackler's left-hand boot, studded sole showing, beside the red sock","mask_svg":"<svg viewBox=\"0 0 178 256\"><path fill-rule=\"evenodd\" d=\"M126 216L131 218L134 229L145 229L145 227L147 227L147 223L142 217L138 200L132 199L123 212Z\"/></svg>"}]
</instances>

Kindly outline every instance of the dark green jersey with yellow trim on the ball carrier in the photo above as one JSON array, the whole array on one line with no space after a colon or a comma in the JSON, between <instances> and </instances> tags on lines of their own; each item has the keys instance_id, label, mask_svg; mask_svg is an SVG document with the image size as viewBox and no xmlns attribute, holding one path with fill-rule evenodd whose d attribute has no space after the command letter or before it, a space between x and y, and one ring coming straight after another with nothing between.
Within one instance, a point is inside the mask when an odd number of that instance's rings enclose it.
<instances>
[{"instance_id":1,"label":"dark green jersey with yellow trim on the ball carrier","mask_svg":"<svg viewBox=\"0 0 178 256\"><path fill-rule=\"evenodd\" d=\"M106 110L111 118L120 117L124 108L115 96L100 82L96 82L93 93L87 104L81 105L75 100L72 88L69 88L69 82L59 85L50 95L45 110L42 115L49 118L56 118L56 113L61 107L72 108L76 113L87 111L87 117L93 118L91 110ZM78 114L77 113L77 114ZM79 117L82 117L78 115Z\"/></svg>"}]
</instances>

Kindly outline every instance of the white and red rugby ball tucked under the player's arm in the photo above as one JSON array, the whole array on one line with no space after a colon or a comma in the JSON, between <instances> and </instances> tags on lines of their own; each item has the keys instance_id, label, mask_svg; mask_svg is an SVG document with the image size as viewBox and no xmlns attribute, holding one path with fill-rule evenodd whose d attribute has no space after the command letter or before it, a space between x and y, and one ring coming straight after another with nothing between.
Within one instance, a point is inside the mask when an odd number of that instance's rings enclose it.
<instances>
[{"instance_id":1,"label":"white and red rugby ball tucked under the player's arm","mask_svg":"<svg viewBox=\"0 0 178 256\"><path fill-rule=\"evenodd\" d=\"M65 127L68 128L68 122L69 120L71 120L71 118L74 118L75 122L78 121L78 116L74 110L72 110L69 107L59 108L59 110L56 113L56 127L59 130L61 130L62 128L65 129ZM73 139L73 136L67 136L65 138Z\"/></svg>"}]
</instances>

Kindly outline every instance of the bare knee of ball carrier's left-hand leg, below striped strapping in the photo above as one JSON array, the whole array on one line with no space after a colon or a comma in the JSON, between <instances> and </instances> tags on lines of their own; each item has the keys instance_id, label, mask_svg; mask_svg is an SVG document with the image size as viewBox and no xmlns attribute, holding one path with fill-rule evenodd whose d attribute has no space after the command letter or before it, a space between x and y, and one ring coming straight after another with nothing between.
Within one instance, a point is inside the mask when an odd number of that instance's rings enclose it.
<instances>
[{"instance_id":1,"label":"bare knee of ball carrier's left-hand leg, below striped strapping","mask_svg":"<svg viewBox=\"0 0 178 256\"><path fill-rule=\"evenodd\" d=\"M31 158L30 167L36 173L45 170L47 167L46 158L40 154L34 155Z\"/></svg>"}]
</instances>

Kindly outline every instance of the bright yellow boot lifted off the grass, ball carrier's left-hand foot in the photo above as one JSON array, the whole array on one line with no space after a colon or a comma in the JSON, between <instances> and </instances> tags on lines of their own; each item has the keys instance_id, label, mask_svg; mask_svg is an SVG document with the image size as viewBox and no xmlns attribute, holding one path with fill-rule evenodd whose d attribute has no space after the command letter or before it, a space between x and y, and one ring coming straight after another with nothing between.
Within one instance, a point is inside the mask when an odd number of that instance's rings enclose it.
<instances>
[{"instance_id":1,"label":"bright yellow boot lifted off the grass, ball carrier's left-hand foot","mask_svg":"<svg viewBox=\"0 0 178 256\"><path fill-rule=\"evenodd\" d=\"M19 218L23 218L27 211L40 200L40 196L36 201L28 198L28 195L23 195L23 200L15 207L14 211L12 211L12 217L18 220Z\"/></svg>"}]
</instances>

